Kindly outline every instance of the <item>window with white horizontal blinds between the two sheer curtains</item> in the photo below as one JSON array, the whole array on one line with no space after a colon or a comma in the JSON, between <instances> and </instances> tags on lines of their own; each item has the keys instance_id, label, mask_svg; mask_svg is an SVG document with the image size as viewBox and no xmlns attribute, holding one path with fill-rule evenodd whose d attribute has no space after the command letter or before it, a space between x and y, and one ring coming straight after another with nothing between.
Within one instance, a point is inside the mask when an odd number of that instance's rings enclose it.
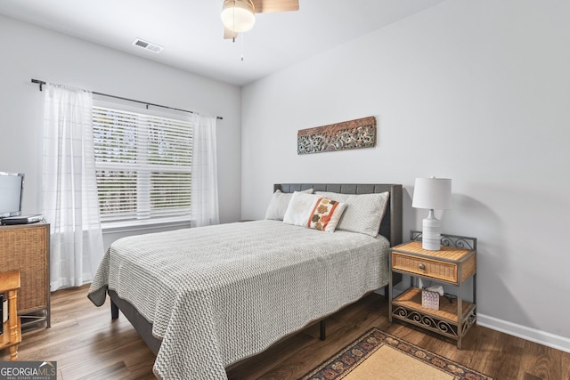
<instances>
[{"instance_id":1,"label":"window with white horizontal blinds between the two sheer curtains","mask_svg":"<svg viewBox=\"0 0 570 380\"><path fill-rule=\"evenodd\" d=\"M103 226L189 221L189 121L94 106L94 151Z\"/></svg>"}]
</instances>

